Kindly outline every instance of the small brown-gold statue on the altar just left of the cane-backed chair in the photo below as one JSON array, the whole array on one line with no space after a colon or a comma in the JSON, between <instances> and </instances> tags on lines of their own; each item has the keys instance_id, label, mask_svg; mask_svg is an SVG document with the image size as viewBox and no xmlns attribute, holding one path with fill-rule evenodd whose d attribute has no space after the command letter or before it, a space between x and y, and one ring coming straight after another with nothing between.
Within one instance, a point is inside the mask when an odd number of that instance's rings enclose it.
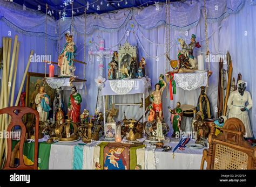
<instances>
[{"instance_id":1,"label":"small brown-gold statue on the altar just left of the cane-backed chair","mask_svg":"<svg viewBox=\"0 0 256 187\"><path fill-rule=\"evenodd\" d=\"M207 138L209 128L204 121L204 113L199 111L196 113L196 121L194 122L194 130L197 132L196 143L204 146L204 139Z\"/></svg>"}]
</instances>

